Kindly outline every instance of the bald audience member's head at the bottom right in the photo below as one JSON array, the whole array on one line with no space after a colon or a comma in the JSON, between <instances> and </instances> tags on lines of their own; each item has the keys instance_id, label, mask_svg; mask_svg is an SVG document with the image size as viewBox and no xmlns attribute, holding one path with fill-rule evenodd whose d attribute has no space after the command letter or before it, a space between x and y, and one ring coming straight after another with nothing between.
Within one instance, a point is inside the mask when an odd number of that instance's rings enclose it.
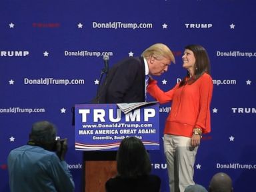
<instances>
[{"instance_id":1,"label":"bald audience member's head at the bottom right","mask_svg":"<svg viewBox=\"0 0 256 192\"><path fill-rule=\"evenodd\" d=\"M233 191L232 180L226 173L216 173L210 181L209 192Z\"/></svg>"}]
</instances>

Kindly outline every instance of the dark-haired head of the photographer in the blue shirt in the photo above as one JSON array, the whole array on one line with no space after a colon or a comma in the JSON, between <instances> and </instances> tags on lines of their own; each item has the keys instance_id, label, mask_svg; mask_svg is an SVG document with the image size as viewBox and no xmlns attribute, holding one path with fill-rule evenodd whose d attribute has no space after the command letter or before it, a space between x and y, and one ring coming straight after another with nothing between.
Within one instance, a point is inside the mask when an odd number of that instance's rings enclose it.
<instances>
[{"instance_id":1,"label":"dark-haired head of the photographer in the blue shirt","mask_svg":"<svg viewBox=\"0 0 256 192\"><path fill-rule=\"evenodd\" d=\"M55 147L56 127L49 121L39 121L33 124L29 134L29 144L41 146L49 151Z\"/></svg>"}]
</instances>

